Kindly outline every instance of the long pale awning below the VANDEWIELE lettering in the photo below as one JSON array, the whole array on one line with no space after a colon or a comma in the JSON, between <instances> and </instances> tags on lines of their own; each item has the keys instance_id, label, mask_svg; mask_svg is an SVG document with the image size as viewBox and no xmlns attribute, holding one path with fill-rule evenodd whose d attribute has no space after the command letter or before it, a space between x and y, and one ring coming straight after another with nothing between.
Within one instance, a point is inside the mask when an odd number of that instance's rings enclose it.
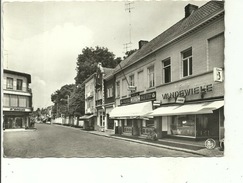
<instances>
[{"instance_id":1,"label":"long pale awning below the VANDEWIELE lettering","mask_svg":"<svg viewBox=\"0 0 243 183\"><path fill-rule=\"evenodd\" d=\"M224 105L224 101L185 104L182 106L168 106L155 109L151 116L173 116L185 114L210 114Z\"/></svg>"}]
</instances>

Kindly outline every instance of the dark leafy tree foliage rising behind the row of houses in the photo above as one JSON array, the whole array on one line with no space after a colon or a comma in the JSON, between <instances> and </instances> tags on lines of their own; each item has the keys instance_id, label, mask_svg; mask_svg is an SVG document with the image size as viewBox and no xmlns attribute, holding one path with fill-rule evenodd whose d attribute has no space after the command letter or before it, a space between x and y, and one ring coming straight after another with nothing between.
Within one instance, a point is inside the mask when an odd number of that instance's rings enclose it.
<instances>
[{"instance_id":1,"label":"dark leafy tree foliage rising behind the row of houses","mask_svg":"<svg viewBox=\"0 0 243 183\"><path fill-rule=\"evenodd\" d=\"M121 62L121 58L115 58L115 55L104 47L84 48L77 58L75 84L64 85L51 95L51 101L54 103L52 112L56 117L60 114L84 115L85 86L82 84L96 72L99 62L102 63L103 67L115 68ZM69 96L68 103L67 96Z\"/></svg>"}]
</instances>

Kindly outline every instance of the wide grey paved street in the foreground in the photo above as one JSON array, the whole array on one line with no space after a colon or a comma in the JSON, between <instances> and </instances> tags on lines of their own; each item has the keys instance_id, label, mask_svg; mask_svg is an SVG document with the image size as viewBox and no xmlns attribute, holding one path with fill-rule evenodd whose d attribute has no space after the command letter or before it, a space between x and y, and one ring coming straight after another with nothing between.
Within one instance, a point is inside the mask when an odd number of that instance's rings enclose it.
<instances>
[{"instance_id":1,"label":"wide grey paved street in the foreground","mask_svg":"<svg viewBox=\"0 0 243 183\"><path fill-rule=\"evenodd\" d=\"M4 132L5 157L195 157L87 133L78 128L36 124L36 131Z\"/></svg>"}]
</instances>

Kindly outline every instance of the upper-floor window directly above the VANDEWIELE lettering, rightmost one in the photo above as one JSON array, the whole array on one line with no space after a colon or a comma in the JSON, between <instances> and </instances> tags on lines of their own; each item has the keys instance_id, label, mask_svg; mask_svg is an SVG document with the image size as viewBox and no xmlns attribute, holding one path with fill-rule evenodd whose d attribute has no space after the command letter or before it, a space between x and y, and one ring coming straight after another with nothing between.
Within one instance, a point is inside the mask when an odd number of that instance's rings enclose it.
<instances>
[{"instance_id":1,"label":"upper-floor window directly above the VANDEWIELE lettering, rightmost one","mask_svg":"<svg viewBox=\"0 0 243 183\"><path fill-rule=\"evenodd\" d=\"M192 75L192 49L182 53L182 72L183 77Z\"/></svg>"}]
</instances>

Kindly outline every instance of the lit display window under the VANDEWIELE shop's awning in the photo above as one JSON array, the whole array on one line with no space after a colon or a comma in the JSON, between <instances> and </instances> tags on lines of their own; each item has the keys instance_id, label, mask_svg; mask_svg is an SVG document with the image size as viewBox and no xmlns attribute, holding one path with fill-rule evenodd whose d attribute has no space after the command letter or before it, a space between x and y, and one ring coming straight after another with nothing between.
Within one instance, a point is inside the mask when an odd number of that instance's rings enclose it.
<instances>
[{"instance_id":1,"label":"lit display window under the VANDEWIELE shop's awning","mask_svg":"<svg viewBox=\"0 0 243 183\"><path fill-rule=\"evenodd\" d=\"M171 134L195 137L195 115L174 116L171 123Z\"/></svg>"}]
</instances>

